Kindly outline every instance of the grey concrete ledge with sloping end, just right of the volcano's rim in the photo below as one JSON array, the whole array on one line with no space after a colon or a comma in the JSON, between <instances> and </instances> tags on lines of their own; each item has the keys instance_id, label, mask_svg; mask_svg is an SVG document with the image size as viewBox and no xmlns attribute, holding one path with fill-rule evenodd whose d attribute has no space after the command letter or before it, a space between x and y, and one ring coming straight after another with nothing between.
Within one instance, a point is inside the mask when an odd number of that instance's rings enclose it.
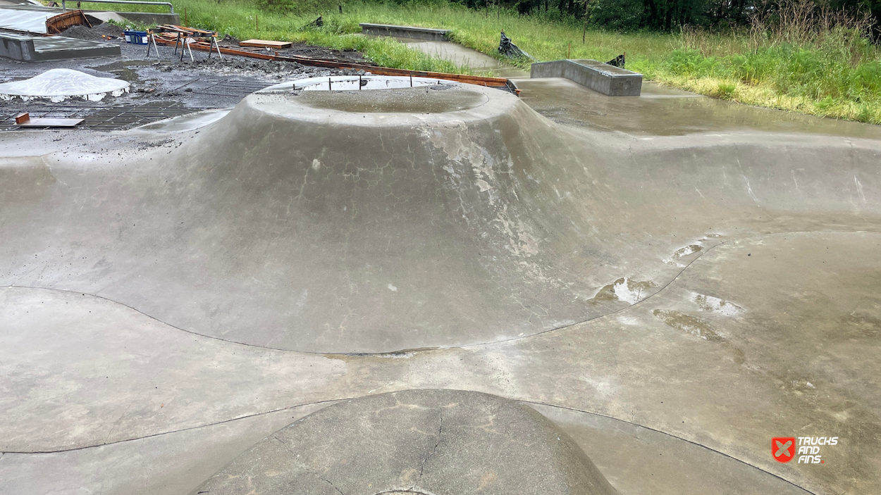
<instances>
[{"instance_id":1,"label":"grey concrete ledge with sloping end, just right of the volcano's rim","mask_svg":"<svg viewBox=\"0 0 881 495\"><path fill-rule=\"evenodd\" d=\"M596 60L533 63L530 78L566 78L606 96L639 96L642 74Z\"/></svg>"}]
</instances>

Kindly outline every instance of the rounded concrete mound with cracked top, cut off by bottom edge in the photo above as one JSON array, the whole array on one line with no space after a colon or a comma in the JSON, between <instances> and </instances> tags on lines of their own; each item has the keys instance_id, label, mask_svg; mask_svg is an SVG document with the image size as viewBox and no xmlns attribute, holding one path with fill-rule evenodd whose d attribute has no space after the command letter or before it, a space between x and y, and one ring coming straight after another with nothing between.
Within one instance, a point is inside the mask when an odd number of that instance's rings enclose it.
<instances>
[{"instance_id":1,"label":"rounded concrete mound with cracked top, cut off by bottom edge","mask_svg":"<svg viewBox=\"0 0 881 495\"><path fill-rule=\"evenodd\" d=\"M275 432L192 491L213 495L613 495L559 426L496 395L404 390L344 401Z\"/></svg>"}]
</instances>

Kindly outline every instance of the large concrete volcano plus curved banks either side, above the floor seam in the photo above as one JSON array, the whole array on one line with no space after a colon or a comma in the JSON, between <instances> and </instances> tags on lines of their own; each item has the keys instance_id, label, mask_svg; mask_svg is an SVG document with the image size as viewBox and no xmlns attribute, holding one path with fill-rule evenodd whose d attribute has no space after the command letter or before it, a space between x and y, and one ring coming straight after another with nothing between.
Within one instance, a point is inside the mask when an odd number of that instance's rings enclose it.
<instances>
[{"instance_id":1,"label":"large concrete volcano plus curved banks either side, above the floor seam","mask_svg":"<svg viewBox=\"0 0 881 495\"><path fill-rule=\"evenodd\" d=\"M0 283L286 350L500 341L645 299L726 236L875 230L878 152L578 133L470 85L258 93L141 159L7 167Z\"/></svg>"}]
</instances>

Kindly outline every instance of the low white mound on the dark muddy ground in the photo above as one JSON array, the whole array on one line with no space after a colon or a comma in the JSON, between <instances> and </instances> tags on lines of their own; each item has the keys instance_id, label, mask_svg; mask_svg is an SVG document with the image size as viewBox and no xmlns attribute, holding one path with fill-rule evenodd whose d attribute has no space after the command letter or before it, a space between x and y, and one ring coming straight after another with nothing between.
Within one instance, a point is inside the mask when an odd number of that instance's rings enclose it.
<instances>
[{"instance_id":1,"label":"low white mound on the dark muddy ground","mask_svg":"<svg viewBox=\"0 0 881 495\"><path fill-rule=\"evenodd\" d=\"M129 83L120 79L96 78L79 70L52 69L30 79L0 84L0 99L46 98L57 102L79 97L98 101L107 93L120 96L128 91Z\"/></svg>"}]
</instances>

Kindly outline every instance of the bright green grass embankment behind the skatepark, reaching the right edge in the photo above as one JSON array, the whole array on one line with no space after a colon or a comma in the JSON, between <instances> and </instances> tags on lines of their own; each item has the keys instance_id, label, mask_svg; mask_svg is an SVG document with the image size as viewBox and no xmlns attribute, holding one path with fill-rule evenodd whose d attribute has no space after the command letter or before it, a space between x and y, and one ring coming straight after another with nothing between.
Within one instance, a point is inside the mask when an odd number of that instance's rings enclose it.
<instances>
[{"instance_id":1,"label":"bright green grass embankment behind the skatepark, reaching the right edge","mask_svg":"<svg viewBox=\"0 0 881 495\"><path fill-rule=\"evenodd\" d=\"M860 26L852 24L821 26L799 17L788 24L728 33L589 30L582 43L581 25L572 20L520 16L505 10L473 11L448 2L399 5L350 0L344 2L343 14L336 9L299 14L258 11L248 0L173 3L181 18L187 10L191 26L240 39L259 37L357 49L375 63L413 70L468 71L393 40L359 36L358 23L453 29L454 41L492 56L499 56L499 32L504 30L539 60L569 56L604 61L626 51L628 69L664 85L762 107L881 123L881 49L861 35ZM301 29L319 13L324 27ZM525 68L528 62L520 65Z\"/></svg>"}]
</instances>

